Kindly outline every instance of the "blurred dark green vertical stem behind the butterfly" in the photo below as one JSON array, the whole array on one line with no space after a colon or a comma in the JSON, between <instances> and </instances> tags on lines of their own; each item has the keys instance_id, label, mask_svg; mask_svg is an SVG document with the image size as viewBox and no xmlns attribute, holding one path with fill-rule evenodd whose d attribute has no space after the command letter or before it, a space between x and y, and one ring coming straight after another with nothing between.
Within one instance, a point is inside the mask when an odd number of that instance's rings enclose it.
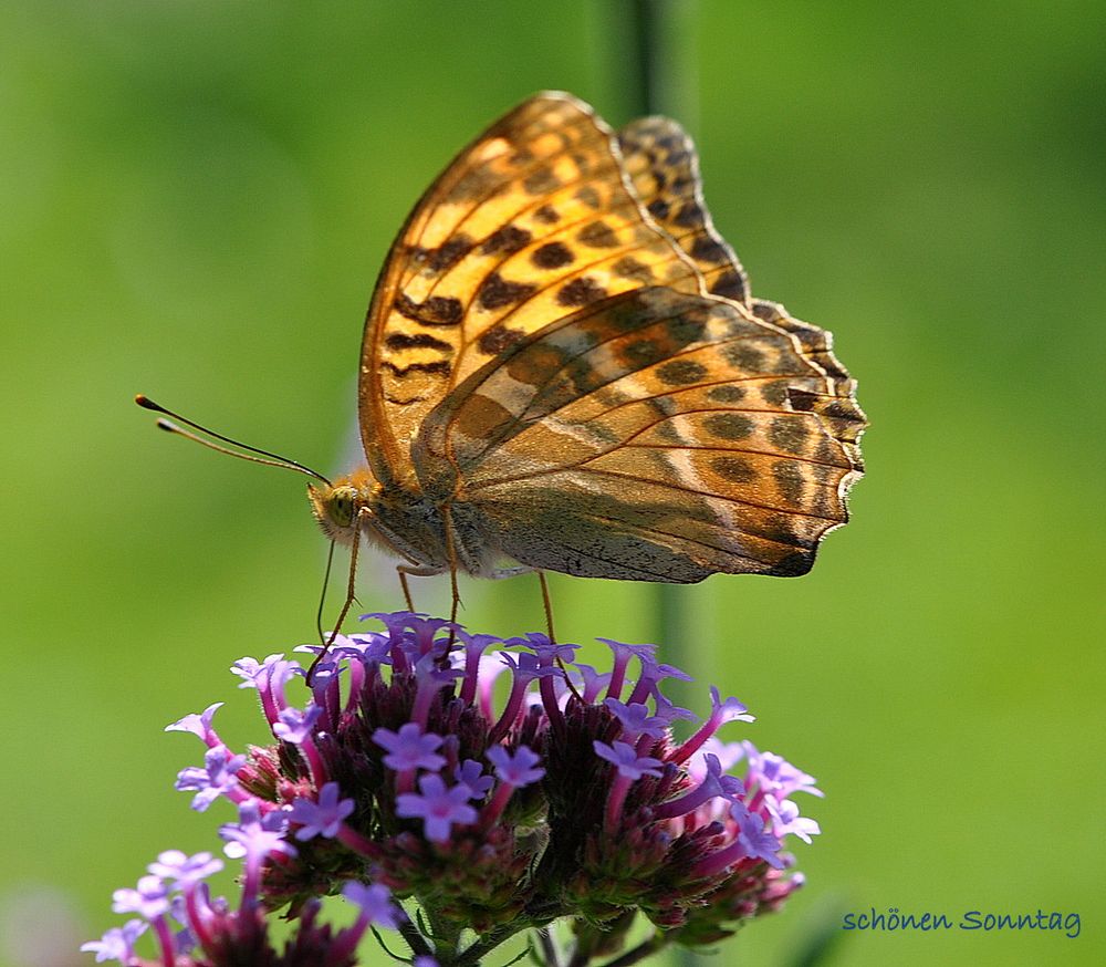
<instances>
[{"instance_id":1,"label":"blurred dark green vertical stem behind the butterfly","mask_svg":"<svg viewBox=\"0 0 1106 967\"><path fill-rule=\"evenodd\" d=\"M691 100L686 96L693 76L688 24L693 17L693 0L615 0L618 23L612 24L611 35L623 46L615 52L615 76L627 111L627 121L647 114L668 114L692 127ZM618 54L622 54L620 56ZM688 589L678 584L651 584L657 641L670 659L701 679L691 642L691 613ZM677 705L689 705L692 689L685 683L667 689ZM692 683L693 688L693 683ZM632 952L639 953L639 952ZM628 956L628 955L627 955ZM674 947L669 963L678 967L696 967L700 958L686 947ZM618 961L615 961L618 963ZM626 960L625 963L636 963Z\"/></svg>"}]
</instances>

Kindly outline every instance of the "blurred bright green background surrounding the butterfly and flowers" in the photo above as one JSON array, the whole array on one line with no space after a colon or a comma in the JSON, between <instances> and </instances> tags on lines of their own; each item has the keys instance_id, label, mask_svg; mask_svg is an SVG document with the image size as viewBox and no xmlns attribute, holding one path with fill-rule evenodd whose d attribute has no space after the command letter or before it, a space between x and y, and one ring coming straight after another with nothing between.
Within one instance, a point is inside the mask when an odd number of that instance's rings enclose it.
<instances>
[{"instance_id":1,"label":"blurred bright green background surrounding the butterfly and flowers","mask_svg":"<svg viewBox=\"0 0 1106 967\"><path fill-rule=\"evenodd\" d=\"M131 396L342 469L409 206L535 90L628 119L627 9L0 7L4 967L91 963L113 888L213 848L229 813L171 790L200 747L161 728L222 699L228 740L262 741L226 668L313 634L303 481L155 434ZM689 661L759 716L728 737L827 792L807 887L713 963L821 933L833 965L1106 963L1102 4L684 12L716 222L754 292L833 330L872 419L810 576L682 591ZM553 584L563 636L657 637L648 586ZM542 626L529 579L463 592L472 627ZM369 570L363 600L399 603ZM838 929L873 907L1082 934Z\"/></svg>"}]
</instances>

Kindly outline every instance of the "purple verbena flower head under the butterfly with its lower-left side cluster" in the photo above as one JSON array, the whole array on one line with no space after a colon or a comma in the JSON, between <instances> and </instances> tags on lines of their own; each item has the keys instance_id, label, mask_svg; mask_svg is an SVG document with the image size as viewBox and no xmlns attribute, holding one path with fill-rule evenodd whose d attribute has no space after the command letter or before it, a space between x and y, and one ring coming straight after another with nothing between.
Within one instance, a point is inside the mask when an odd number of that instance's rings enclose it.
<instances>
[{"instance_id":1,"label":"purple verbena flower head under the butterfly with its lower-left side cluster","mask_svg":"<svg viewBox=\"0 0 1106 967\"><path fill-rule=\"evenodd\" d=\"M134 944L148 924L166 965L352 965L379 925L420 963L478 964L520 930L571 917L573 963L587 964L617 952L640 913L656 929L637 956L623 954L630 964L665 944L713 943L801 885L783 843L818 832L791 798L821 794L814 780L748 741L720 741L723 725L752 716L713 688L707 720L677 740L672 725L695 716L660 683L688 676L654 646L607 641L601 673L575 662L576 645L540 634L373 616L386 631L338 636L305 707L290 699L306 683L298 662L236 663L271 745L232 751L212 726L219 705L169 726L208 747L177 780L192 808L238 809L220 834L243 862L241 901L208 898L220 861L165 853L137 890L116 893L115 909L142 919L85 945L97 960L146 963ZM729 774L738 763L740 778ZM335 893L362 911L340 932L317 922L319 898ZM393 896L418 904L415 922ZM278 956L265 915L280 909L299 929ZM169 917L185 929L174 934ZM547 933L540 943L560 963Z\"/></svg>"}]
</instances>

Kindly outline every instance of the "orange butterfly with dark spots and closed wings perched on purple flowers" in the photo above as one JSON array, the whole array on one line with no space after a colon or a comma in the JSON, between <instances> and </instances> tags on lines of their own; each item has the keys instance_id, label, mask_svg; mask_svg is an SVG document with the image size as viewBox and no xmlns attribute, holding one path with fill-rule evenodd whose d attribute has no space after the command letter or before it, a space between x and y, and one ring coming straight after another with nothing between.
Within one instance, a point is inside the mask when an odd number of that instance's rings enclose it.
<instances>
[{"instance_id":1,"label":"orange butterfly with dark spots and closed wings perched on purple flowers","mask_svg":"<svg viewBox=\"0 0 1106 967\"><path fill-rule=\"evenodd\" d=\"M616 132L540 93L400 229L362 345L366 466L310 498L333 541L398 558L405 591L448 571L455 601L458 571L804 574L862 474L855 388L828 333L750 293L676 122Z\"/></svg>"}]
</instances>

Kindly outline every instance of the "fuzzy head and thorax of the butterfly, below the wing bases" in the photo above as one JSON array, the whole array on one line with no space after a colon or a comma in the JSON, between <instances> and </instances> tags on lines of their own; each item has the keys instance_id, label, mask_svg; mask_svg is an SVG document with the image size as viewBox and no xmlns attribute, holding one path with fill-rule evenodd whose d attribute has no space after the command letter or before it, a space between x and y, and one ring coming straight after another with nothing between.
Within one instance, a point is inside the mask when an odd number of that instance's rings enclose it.
<instances>
[{"instance_id":1,"label":"fuzzy head and thorax of the butterfly, below the wing bases","mask_svg":"<svg viewBox=\"0 0 1106 967\"><path fill-rule=\"evenodd\" d=\"M428 497L414 481L385 485L363 467L331 486L310 486L307 496L323 532L346 547L359 522L371 543L422 572L450 570L450 544L461 570L476 574L493 570L494 555L466 526L465 508L457 508L460 519L453 520L452 540L447 540L444 502Z\"/></svg>"}]
</instances>

